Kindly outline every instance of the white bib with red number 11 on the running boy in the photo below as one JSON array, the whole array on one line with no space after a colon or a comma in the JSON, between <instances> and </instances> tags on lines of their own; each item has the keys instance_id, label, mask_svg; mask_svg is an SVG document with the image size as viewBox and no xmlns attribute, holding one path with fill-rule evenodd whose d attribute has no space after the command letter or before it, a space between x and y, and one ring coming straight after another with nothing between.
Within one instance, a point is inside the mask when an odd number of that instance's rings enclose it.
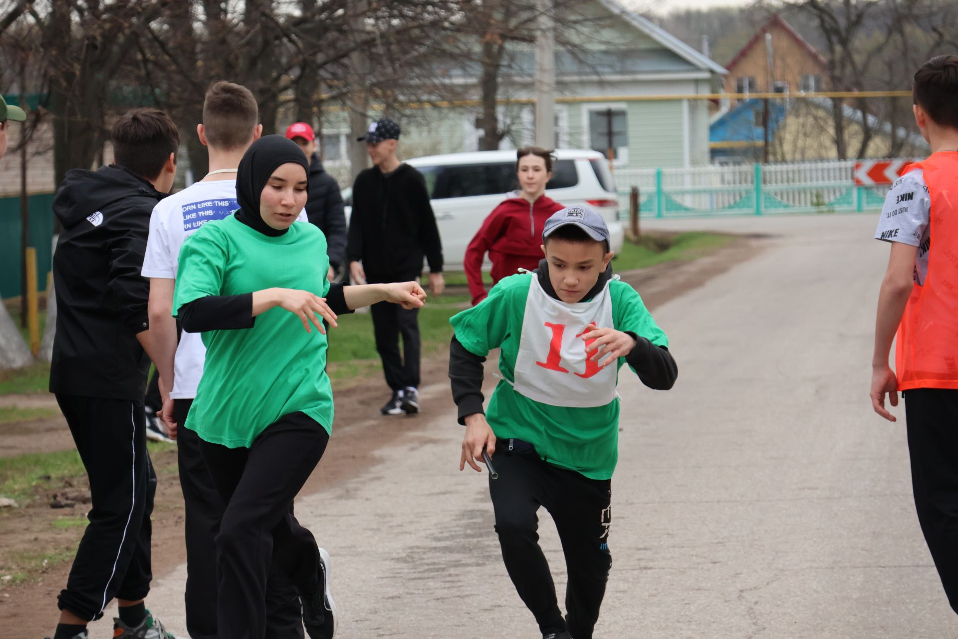
<instances>
[{"instance_id":1,"label":"white bib with red number 11 on the running boy","mask_svg":"<svg viewBox=\"0 0 958 639\"><path fill-rule=\"evenodd\" d=\"M608 285L591 302L567 304L550 297L533 274L515 358L516 392L574 408L604 406L615 399L618 366L613 362L600 368L599 362L587 361L585 348L592 340L582 339L590 324L613 328Z\"/></svg>"}]
</instances>

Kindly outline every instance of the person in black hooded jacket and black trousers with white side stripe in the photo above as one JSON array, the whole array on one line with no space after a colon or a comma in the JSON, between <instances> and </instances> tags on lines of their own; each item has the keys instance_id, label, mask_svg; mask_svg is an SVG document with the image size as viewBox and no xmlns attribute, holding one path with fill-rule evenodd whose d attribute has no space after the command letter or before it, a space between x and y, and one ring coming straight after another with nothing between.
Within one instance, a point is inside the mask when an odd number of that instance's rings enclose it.
<instances>
[{"instance_id":1,"label":"person in black hooded jacket and black trousers with white side stripe","mask_svg":"<svg viewBox=\"0 0 958 639\"><path fill-rule=\"evenodd\" d=\"M67 171L54 200L63 231L54 258L50 391L92 498L90 524L59 594L54 639L86 639L86 624L114 598L114 637L171 639L144 605L156 475L144 423L151 342L149 284L140 268L150 213L172 187L179 134L166 113L145 108L121 117L111 137L116 163ZM161 389L168 382L161 375Z\"/></svg>"}]
</instances>

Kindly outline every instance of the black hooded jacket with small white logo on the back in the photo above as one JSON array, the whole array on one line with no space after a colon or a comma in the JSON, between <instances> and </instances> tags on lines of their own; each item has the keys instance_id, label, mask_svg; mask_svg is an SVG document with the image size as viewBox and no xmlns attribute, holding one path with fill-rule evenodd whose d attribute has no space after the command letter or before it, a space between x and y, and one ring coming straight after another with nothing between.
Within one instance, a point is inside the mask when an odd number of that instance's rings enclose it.
<instances>
[{"instance_id":1,"label":"black hooded jacket with small white logo on the back","mask_svg":"<svg viewBox=\"0 0 958 639\"><path fill-rule=\"evenodd\" d=\"M124 167L67 171L54 199L63 231L52 393L143 400L149 359L136 333L148 329L149 281L140 269L149 216L165 196Z\"/></svg>"}]
</instances>

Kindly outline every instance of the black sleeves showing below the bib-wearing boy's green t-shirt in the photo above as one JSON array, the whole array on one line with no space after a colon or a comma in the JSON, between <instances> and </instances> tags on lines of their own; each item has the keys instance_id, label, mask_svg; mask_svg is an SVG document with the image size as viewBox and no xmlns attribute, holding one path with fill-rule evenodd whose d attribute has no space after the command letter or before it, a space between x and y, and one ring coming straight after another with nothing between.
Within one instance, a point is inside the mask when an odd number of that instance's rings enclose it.
<instances>
[{"instance_id":1,"label":"black sleeves showing below the bib-wearing boy's green t-shirt","mask_svg":"<svg viewBox=\"0 0 958 639\"><path fill-rule=\"evenodd\" d=\"M648 339L632 331L625 331L635 340L635 348L626 355L639 380L654 390L667 391L678 377L678 365L669 349L655 346ZM485 357L470 353L456 336L449 344L449 380L452 385L452 400L459 409L459 423L475 413L485 414L482 392Z\"/></svg>"}]
</instances>

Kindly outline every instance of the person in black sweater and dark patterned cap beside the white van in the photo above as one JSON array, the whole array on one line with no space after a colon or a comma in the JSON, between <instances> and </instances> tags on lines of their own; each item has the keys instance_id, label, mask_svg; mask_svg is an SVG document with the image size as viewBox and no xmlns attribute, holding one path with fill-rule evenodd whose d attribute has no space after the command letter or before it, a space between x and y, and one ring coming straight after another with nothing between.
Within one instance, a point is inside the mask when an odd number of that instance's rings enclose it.
<instances>
[{"instance_id":1,"label":"person in black sweater and dark patterned cap beside the white van","mask_svg":"<svg viewBox=\"0 0 958 639\"><path fill-rule=\"evenodd\" d=\"M443 292L443 244L422 173L399 162L399 125L389 118L376 120L359 138L374 167L356 175L353 216L347 254L350 274L359 284L404 282L422 275L423 257L429 262L429 286ZM419 309L374 304L376 351L382 359L392 397L380 409L383 415L420 410ZM399 334L403 353L399 354Z\"/></svg>"}]
</instances>

